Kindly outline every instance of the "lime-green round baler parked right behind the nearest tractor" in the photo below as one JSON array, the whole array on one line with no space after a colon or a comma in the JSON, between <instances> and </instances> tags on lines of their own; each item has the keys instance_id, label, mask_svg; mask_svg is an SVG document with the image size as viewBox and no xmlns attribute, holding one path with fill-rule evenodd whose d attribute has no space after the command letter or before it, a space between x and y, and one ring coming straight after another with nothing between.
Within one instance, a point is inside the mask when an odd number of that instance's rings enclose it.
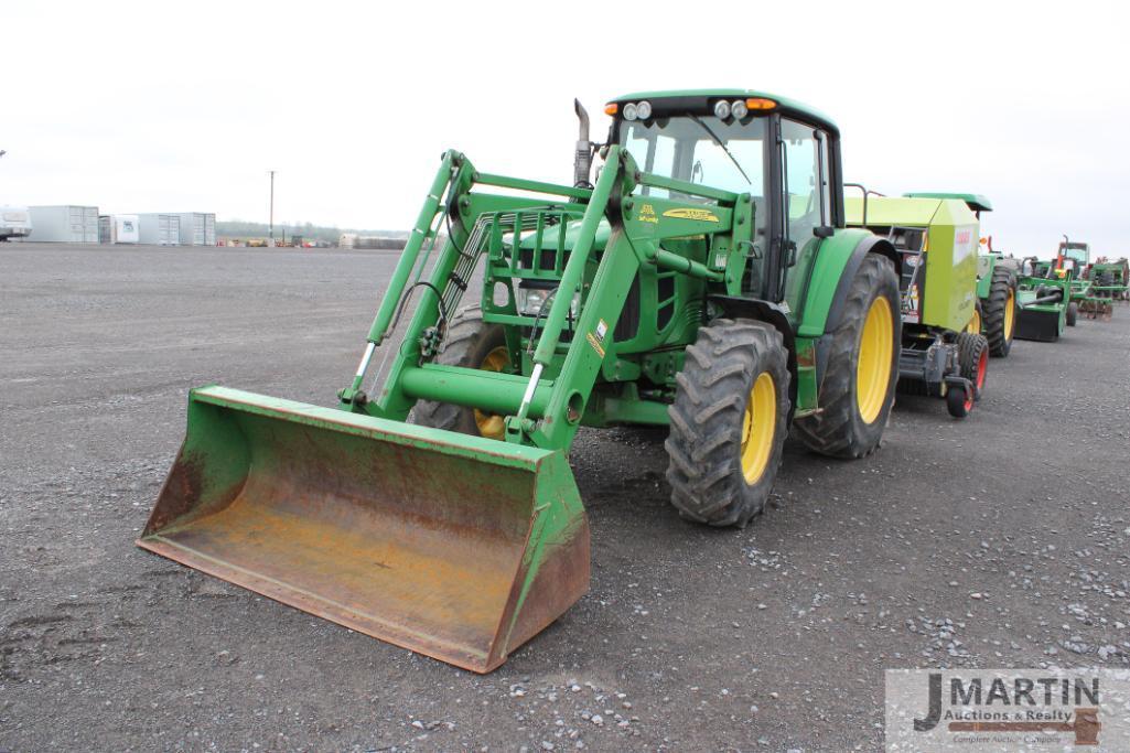
<instances>
[{"instance_id":1,"label":"lime-green round baler parked right behind the nearest tractor","mask_svg":"<svg viewBox=\"0 0 1130 753\"><path fill-rule=\"evenodd\" d=\"M949 194L893 198L862 185L847 224L884 235L903 257L898 389L946 399L964 418L981 398L989 341L976 310L977 218Z\"/></svg>"}]
</instances>

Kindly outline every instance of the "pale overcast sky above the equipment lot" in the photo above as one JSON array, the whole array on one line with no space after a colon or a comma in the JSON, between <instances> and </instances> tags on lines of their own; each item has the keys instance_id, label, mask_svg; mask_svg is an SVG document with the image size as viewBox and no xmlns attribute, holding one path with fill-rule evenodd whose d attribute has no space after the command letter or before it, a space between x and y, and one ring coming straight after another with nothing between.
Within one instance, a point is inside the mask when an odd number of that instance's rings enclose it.
<instances>
[{"instance_id":1,"label":"pale overcast sky above the equipment lot","mask_svg":"<svg viewBox=\"0 0 1130 753\"><path fill-rule=\"evenodd\" d=\"M1130 251L1119 3L6 2L0 204L407 228L443 149L567 182L572 99L807 102L849 180L989 196L1017 256ZM259 3L255 3L257 6ZM245 7L246 6L246 7Z\"/></svg>"}]
</instances>

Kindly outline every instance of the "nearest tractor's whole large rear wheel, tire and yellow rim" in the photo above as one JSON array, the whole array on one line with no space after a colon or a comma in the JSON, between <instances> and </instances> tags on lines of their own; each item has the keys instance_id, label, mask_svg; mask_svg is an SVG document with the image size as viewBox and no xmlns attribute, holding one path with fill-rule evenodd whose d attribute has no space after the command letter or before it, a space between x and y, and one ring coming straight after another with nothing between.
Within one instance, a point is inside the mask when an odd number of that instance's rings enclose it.
<instances>
[{"instance_id":1,"label":"nearest tractor's whole large rear wheel, tire and yellow rim","mask_svg":"<svg viewBox=\"0 0 1130 753\"><path fill-rule=\"evenodd\" d=\"M862 458L879 445L898 381L899 312L895 266L869 253L851 282L843 319L832 334L820 410L793 422L796 435L808 449L834 458Z\"/></svg>"}]
</instances>

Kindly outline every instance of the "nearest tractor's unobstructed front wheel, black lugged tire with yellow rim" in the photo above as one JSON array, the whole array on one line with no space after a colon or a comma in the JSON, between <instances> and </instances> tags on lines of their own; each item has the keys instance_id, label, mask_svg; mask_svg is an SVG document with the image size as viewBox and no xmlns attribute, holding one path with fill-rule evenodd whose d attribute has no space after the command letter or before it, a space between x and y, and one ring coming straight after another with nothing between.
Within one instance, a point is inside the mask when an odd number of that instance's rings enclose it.
<instances>
[{"instance_id":1,"label":"nearest tractor's unobstructed front wheel, black lugged tire with yellow rim","mask_svg":"<svg viewBox=\"0 0 1130 753\"><path fill-rule=\"evenodd\" d=\"M687 346L668 409L667 481L688 520L744 527L765 508L788 433L789 365L771 324L718 319Z\"/></svg>"}]
</instances>

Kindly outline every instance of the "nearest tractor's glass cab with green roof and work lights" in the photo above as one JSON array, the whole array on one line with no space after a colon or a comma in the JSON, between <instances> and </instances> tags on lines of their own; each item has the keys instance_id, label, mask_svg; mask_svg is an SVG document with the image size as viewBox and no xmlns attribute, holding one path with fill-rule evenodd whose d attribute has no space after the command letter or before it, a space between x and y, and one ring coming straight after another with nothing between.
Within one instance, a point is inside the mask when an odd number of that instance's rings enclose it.
<instances>
[{"instance_id":1,"label":"nearest tractor's glass cab with green roof and work lights","mask_svg":"<svg viewBox=\"0 0 1130 753\"><path fill-rule=\"evenodd\" d=\"M749 197L740 294L796 317L820 240L843 227L836 126L805 105L744 89L633 94L605 112L612 116L608 142L627 150L643 173ZM705 205L711 193L634 190L642 204Z\"/></svg>"}]
</instances>

